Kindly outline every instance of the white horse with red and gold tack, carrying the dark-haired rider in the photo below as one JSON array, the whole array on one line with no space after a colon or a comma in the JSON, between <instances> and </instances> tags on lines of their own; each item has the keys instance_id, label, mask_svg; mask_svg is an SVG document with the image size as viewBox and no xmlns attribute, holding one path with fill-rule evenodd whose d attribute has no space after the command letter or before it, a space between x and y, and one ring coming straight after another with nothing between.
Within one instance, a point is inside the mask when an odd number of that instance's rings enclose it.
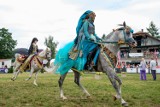
<instances>
[{"instance_id":1,"label":"white horse with red and gold tack, carrying the dark-haired rider","mask_svg":"<svg viewBox=\"0 0 160 107\"><path fill-rule=\"evenodd\" d=\"M51 69L49 69L48 67L44 67L43 66L43 61L49 61L49 59L51 58L51 50L50 48L46 48L45 50L41 51L40 53L38 53L37 55L34 55L31 58L30 61L30 76L29 78L27 78L26 80L28 81L29 79L31 79L33 73L35 73L35 78L34 78L34 82L33 84L37 85L37 74L39 71L41 71L42 69L44 69L47 72L50 72ZM16 53L15 54L15 62L13 64L14 70L13 70L13 77L11 78L11 80L16 80L19 72L22 72L22 70L20 70L21 65L23 64L23 61L25 60L24 56L21 54Z\"/></svg>"}]
</instances>

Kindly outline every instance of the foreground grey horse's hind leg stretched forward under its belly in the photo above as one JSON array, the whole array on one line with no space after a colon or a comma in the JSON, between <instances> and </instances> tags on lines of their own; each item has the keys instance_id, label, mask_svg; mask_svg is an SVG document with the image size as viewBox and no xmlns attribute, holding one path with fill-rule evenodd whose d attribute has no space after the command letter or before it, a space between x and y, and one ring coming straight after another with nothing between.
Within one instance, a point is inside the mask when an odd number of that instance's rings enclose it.
<instances>
[{"instance_id":1,"label":"foreground grey horse's hind leg stretched forward under its belly","mask_svg":"<svg viewBox=\"0 0 160 107\"><path fill-rule=\"evenodd\" d=\"M74 82L79 86L79 88L86 94L87 98L90 97L90 94L88 91L81 85L80 83L80 73L77 71L74 71Z\"/></svg>"}]
</instances>

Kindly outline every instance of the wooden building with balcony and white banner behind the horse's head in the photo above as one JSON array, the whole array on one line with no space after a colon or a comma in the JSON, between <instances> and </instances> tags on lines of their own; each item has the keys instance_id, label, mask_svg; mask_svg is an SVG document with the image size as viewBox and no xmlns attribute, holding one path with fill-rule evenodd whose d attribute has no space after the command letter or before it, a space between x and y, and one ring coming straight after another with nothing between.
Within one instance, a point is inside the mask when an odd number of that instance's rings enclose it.
<instances>
[{"instance_id":1,"label":"wooden building with balcony and white banner behind the horse's head","mask_svg":"<svg viewBox=\"0 0 160 107\"><path fill-rule=\"evenodd\" d=\"M143 30L134 33L133 37L137 41L137 47L131 48L128 45L122 45L120 47L120 63L136 66L140 63L141 58L145 58L149 64L151 57L154 57L157 64L160 65L160 40Z\"/></svg>"}]
</instances>

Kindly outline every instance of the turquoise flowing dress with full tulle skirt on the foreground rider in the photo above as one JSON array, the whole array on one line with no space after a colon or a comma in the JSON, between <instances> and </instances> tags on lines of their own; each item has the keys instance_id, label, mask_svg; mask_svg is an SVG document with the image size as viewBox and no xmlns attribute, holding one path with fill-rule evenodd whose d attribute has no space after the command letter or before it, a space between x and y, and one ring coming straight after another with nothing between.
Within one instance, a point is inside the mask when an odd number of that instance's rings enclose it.
<instances>
[{"instance_id":1,"label":"turquoise flowing dress with full tulle skirt on the foreground rider","mask_svg":"<svg viewBox=\"0 0 160 107\"><path fill-rule=\"evenodd\" d=\"M76 39L66 44L56 53L54 61L54 65L57 67L56 73L63 75L71 68L75 68L80 72L83 71L88 54L98 46L97 42L101 39L95 34L95 27L91 19L84 19L82 23ZM74 48L76 48L76 57L71 58L74 54ZM97 50L94 56L94 64L97 62L99 52L100 49Z\"/></svg>"}]
</instances>

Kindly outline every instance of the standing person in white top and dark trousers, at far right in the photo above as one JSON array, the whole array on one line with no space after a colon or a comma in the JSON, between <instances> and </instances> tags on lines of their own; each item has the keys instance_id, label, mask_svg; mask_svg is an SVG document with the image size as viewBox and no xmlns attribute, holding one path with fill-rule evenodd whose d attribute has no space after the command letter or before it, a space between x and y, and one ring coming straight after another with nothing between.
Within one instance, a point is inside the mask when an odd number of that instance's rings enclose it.
<instances>
[{"instance_id":1,"label":"standing person in white top and dark trousers, at far right","mask_svg":"<svg viewBox=\"0 0 160 107\"><path fill-rule=\"evenodd\" d=\"M151 69L153 80L156 80L156 61L154 60L154 58L151 58L150 69Z\"/></svg>"}]
</instances>

